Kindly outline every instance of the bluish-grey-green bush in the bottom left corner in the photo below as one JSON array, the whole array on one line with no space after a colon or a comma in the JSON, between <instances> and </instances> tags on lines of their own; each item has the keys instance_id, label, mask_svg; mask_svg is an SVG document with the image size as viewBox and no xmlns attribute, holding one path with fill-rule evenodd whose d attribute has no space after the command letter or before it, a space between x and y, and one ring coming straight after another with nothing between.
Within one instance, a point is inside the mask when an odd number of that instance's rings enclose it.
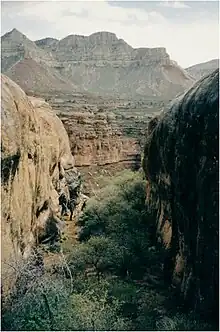
<instances>
[{"instance_id":1,"label":"bluish-grey-green bush in the bottom left corner","mask_svg":"<svg viewBox=\"0 0 220 332\"><path fill-rule=\"evenodd\" d=\"M23 293L13 296L3 311L2 327L6 331L56 330L56 317L68 301L63 280L41 276L27 283Z\"/></svg>"}]
</instances>

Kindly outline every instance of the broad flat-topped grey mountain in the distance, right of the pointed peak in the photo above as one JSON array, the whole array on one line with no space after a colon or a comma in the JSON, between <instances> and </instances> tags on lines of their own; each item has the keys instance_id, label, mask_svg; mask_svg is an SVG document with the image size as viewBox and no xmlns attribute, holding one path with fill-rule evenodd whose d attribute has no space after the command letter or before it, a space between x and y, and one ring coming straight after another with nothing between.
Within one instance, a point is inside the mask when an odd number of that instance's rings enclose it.
<instances>
[{"instance_id":1,"label":"broad flat-topped grey mountain in the distance, right of the pointed peak","mask_svg":"<svg viewBox=\"0 0 220 332\"><path fill-rule=\"evenodd\" d=\"M133 49L114 33L70 35L36 41L50 50L60 72L85 90L109 95L175 96L193 80L170 60L165 48ZM82 74L83 73L83 74Z\"/></svg>"}]
</instances>

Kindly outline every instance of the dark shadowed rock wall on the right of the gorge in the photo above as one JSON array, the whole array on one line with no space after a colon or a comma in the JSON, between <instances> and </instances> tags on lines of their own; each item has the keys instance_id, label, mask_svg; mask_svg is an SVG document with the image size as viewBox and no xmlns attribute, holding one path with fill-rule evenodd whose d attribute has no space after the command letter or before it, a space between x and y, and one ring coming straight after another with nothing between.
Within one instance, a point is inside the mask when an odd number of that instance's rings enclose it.
<instances>
[{"instance_id":1,"label":"dark shadowed rock wall on the right of the gorge","mask_svg":"<svg viewBox=\"0 0 220 332\"><path fill-rule=\"evenodd\" d=\"M203 315L218 315L218 80L216 70L150 122L143 162L165 277Z\"/></svg>"}]
</instances>

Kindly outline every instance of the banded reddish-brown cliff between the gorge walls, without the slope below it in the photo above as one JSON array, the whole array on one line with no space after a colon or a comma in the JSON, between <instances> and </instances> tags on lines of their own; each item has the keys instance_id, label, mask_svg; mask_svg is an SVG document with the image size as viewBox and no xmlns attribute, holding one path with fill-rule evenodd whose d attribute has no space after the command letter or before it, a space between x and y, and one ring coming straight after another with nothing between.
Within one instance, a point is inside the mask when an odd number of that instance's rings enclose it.
<instances>
[{"instance_id":1,"label":"banded reddish-brown cliff between the gorge walls, without the slope below it","mask_svg":"<svg viewBox=\"0 0 220 332\"><path fill-rule=\"evenodd\" d=\"M125 163L140 167L140 145L122 136L114 114L74 112L59 115L69 135L76 166Z\"/></svg>"}]
</instances>

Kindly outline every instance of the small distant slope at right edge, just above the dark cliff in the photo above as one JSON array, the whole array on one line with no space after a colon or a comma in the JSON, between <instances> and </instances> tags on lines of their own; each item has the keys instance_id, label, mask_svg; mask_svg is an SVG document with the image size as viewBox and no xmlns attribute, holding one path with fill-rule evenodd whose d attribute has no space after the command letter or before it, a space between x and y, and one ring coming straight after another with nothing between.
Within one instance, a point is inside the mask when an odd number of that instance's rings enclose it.
<instances>
[{"instance_id":1,"label":"small distant slope at right edge, just above the dark cliff","mask_svg":"<svg viewBox=\"0 0 220 332\"><path fill-rule=\"evenodd\" d=\"M214 59L186 68L186 71L196 80L199 80L203 76L211 74L217 68L219 68L219 59Z\"/></svg>"}]
</instances>

